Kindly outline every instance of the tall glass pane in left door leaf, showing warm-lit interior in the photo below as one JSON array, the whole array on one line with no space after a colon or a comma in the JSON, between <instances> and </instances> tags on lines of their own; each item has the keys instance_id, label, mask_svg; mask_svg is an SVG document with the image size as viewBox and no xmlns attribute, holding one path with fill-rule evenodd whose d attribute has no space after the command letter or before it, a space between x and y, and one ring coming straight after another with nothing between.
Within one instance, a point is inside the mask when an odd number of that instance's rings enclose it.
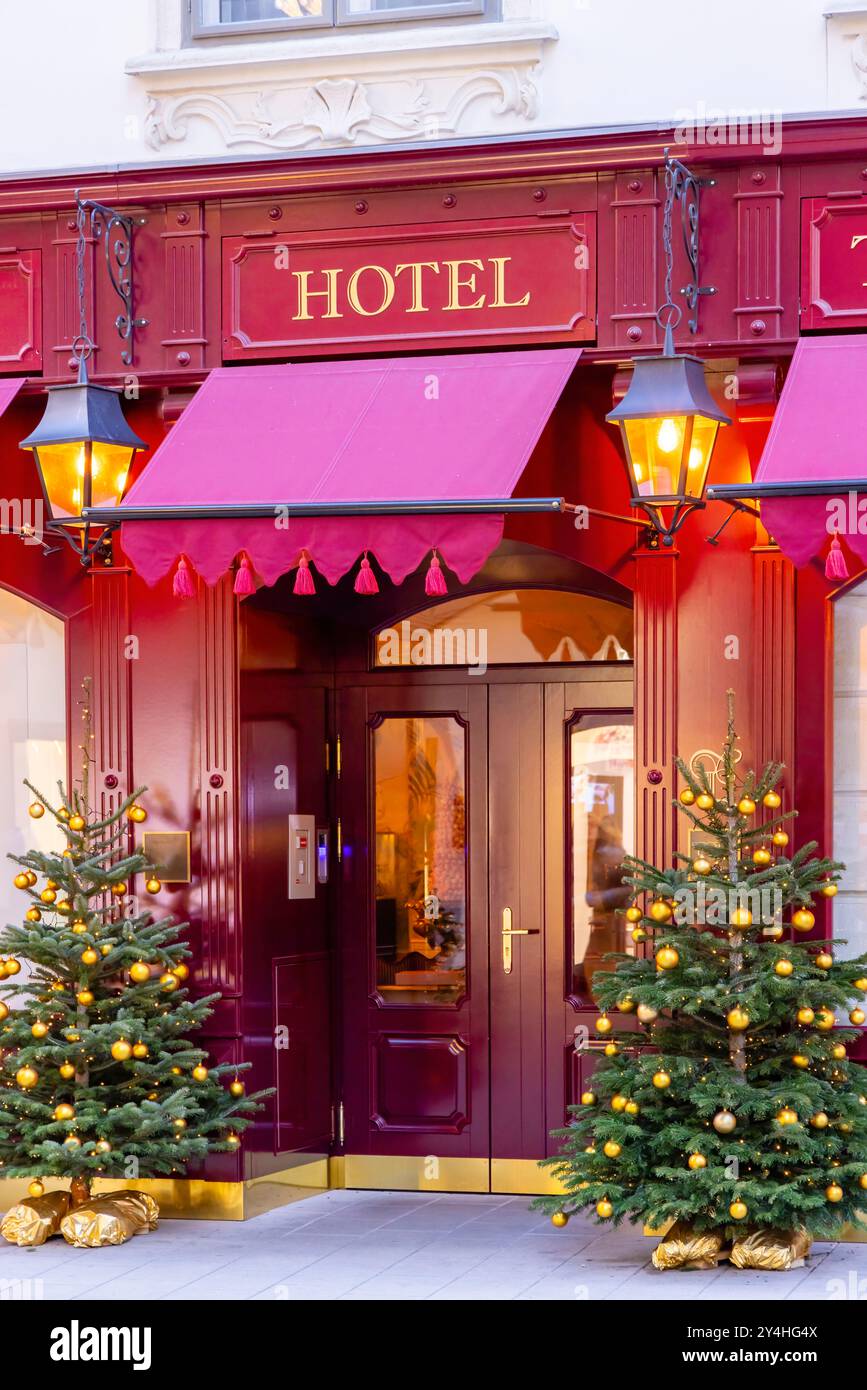
<instances>
[{"instance_id":1,"label":"tall glass pane in left door leaf, showing warm-lit interior","mask_svg":"<svg viewBox=\"0 0 867 1390\"><path fill-rule=\"evenodd\" d=\"M467 972L464 730L452 716L374 730L377 988L386 1004L450 1004Z\"/></svg>"}]
</instances>

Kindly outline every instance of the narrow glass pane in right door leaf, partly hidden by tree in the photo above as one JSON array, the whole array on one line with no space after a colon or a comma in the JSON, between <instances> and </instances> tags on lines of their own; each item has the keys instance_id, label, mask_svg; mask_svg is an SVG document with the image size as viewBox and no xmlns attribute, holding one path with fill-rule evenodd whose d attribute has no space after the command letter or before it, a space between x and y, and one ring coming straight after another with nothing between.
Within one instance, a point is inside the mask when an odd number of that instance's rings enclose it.
<instances>
[{"instance_id":1,"label":"narrow glass pane in right door leaf, partly hidden by tree","mask_svg":"<svg viewBox=\"0 0 867 1390\"><path fill-rule=\"evenodd\" d=\"M624 855L635 844L631 714L584 714L570 727L572 994L588 998L607 951L629 951Z\"/></svg>"}]
</instances>

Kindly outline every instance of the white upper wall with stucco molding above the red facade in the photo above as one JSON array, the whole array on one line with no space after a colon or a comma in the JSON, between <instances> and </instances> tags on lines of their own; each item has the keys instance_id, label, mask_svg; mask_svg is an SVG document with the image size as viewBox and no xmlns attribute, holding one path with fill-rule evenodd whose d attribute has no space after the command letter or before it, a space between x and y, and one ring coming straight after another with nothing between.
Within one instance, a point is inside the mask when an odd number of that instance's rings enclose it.
<instances>
[{"instance_id":1,"label":"white upper wall with stucco molding above the red facade","mask_svg":"<svg viewBox=\"0 0 867 1390\"><path fill-rule=\"evenodd\" d=\"M500 0L185 42L190 3L6 0L0 174L867 110L867 6L834 0Z\"/></svg>"}]
</instances>

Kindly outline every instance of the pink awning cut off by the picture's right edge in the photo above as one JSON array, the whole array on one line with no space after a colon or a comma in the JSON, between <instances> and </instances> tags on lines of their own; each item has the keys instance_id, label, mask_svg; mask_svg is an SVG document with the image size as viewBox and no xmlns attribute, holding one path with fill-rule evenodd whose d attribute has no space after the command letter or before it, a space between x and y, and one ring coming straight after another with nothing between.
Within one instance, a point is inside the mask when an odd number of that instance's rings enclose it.
<instances>
[{"instance_id":1,"label":"pink awning cut off by the picture's right edge","mask_svg":"<svg viewBox=\"0 0 867 1390\"><path fill-rule=\"evenodd\" d=\"M867 492L867 338L802 338L753 482L707 493L759 499L761 523L779 549L807 564L835 534L867 563L860 492ZM841 577L834 564L828 571Z\"/></svg>"}]
</instances>

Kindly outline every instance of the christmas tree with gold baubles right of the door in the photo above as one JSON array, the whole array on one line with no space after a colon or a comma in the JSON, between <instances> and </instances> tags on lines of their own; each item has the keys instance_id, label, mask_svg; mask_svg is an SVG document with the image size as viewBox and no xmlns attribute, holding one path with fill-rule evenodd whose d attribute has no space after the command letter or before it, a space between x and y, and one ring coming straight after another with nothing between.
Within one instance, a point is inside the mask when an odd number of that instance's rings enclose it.
<instances>
[{"instance_id":1,"label":"christmas tree with gold baubles right of the door","mask_svg":"<svg viewBox=\"0 0 867 1390\"><path fill-rule=\"evenodd\" d=\"M738 1240L746 1229L829 1237L867 1207L867 1070L838 1027L867 991L843 942L798 942L834 897L842 865L789 852L779 763L738 778L734 696L718 777L678 760L691 855L656 869L627 858L625 916L646 955L616 955L593 979L606 1040L592 1091L546 1159L564 1197L539 1198L556 1225L595 1209ZM643 1036L617 1037L614 1012Z\"/></svg>"}]
</instances>

